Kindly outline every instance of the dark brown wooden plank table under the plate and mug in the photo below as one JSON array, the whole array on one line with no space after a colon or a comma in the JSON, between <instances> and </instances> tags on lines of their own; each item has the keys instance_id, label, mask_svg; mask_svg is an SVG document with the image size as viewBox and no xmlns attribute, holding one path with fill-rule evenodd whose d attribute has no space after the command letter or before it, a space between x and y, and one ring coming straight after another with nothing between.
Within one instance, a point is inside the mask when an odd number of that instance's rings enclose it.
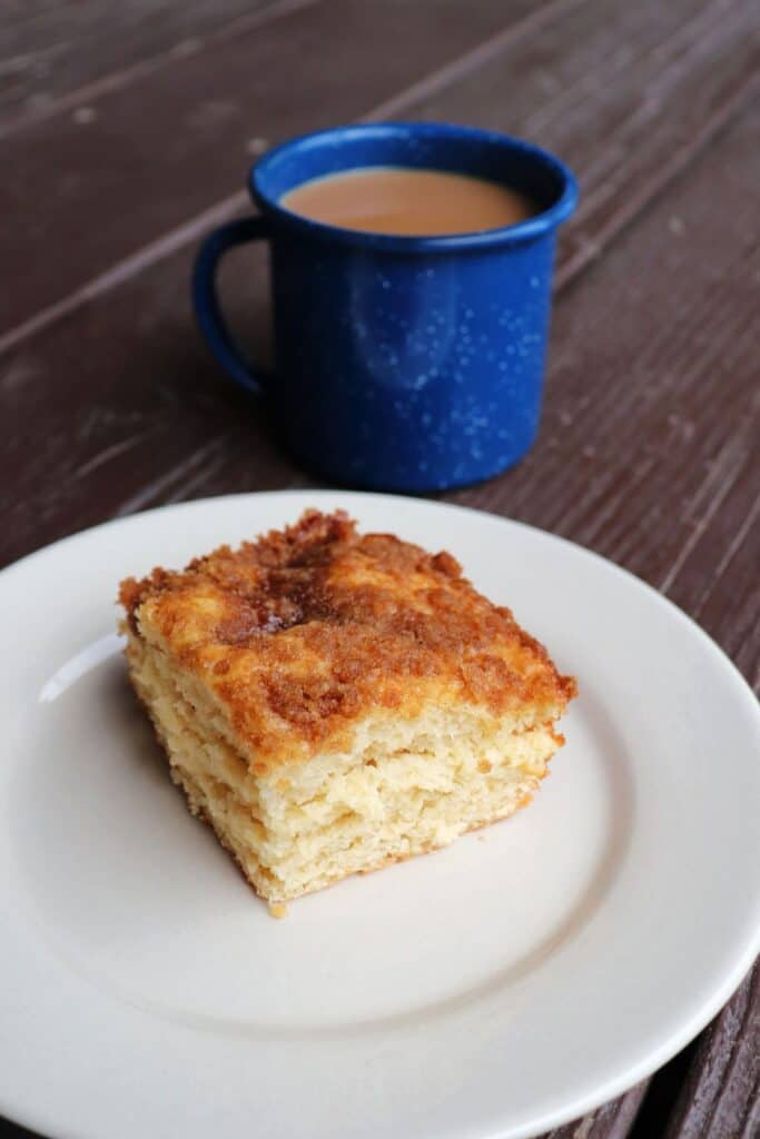
<instances>
[{"instance_id":1,"label":"dark brown wooden plank table under the plate and mug","mask_svg":"<svg viewBox=\"0 0 760 1139\"><path fill-rule=\"evenodd\" d=\"M627 566L757 683L753 17L742 0L9 0L0 558L163 502L313 485L201 343L194 249L246 211L244 172L269 144L453 120L556 150L582 203L539 442L444 497ZM242 253L223 284L265 349L263 261ZM554 1139L757 1137L759 988L755 967L685 1052Z\"/></svg>"}]
</instances>

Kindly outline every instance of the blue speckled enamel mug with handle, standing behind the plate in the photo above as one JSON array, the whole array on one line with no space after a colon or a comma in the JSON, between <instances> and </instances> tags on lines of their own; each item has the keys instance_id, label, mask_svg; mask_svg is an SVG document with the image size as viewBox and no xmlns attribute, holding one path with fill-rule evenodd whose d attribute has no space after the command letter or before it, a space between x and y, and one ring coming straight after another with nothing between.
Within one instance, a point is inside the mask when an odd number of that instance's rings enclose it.
<instances>
[{"instance_id":1,"label":"blue speckled enamel mug with handle, standing behind the plate","mask_svg":"<svg viewBox=\"0 0 760 1139\"><path fill-rule=\"evenodd\" d=\"M289 190L357 167L442 170L502 182L537 213L502 229L400 237L284 208ZM258 216L203 243L201 329L228 375L262 396L283 444L332 482L436 491L517 462L539 424L557 227L578 198L558 158L491 131L387 123L317 131L253 166ZM244 359L215 277L232 246L270 248L275 369Z\"/></svg>"}]
</instances>

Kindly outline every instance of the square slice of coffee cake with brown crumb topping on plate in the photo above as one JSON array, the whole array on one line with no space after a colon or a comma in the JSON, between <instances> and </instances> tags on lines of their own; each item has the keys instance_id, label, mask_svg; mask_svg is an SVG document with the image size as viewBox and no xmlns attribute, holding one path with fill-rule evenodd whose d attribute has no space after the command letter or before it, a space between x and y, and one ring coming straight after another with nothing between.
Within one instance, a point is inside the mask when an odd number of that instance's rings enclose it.
<instances>
[{"instance_id":1,"label":"square slice of coffee cake with brown crumb topping on plate","mask_svg":"<svg viewBox=\"0 0 760 1139\"><path fill-rule=\"evenodd\" d=\"M338 511L121 585L190 810L284 902L529 802L575 693L451 555Z\"/></svg>"}]
</instances>

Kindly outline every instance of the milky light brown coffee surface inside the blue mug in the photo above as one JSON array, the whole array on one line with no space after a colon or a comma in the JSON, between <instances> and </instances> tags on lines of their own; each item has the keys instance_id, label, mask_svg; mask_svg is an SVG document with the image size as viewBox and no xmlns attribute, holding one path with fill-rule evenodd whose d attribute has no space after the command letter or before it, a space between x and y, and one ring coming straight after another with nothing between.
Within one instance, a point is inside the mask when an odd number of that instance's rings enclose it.
<instances>
[{"instance_id":1,"label":"milky light brown coffee surface inside the blue mug","mask_svg":"<svg viewBox=\"0 0 760 1139\"><path fill-rule=\"evenodd\" d=\"M285 194L280 205L342 229L409 237L500 229L537 213L522 194L498 182L397 166L314 178Z\"/></svg>"}]
</instances>

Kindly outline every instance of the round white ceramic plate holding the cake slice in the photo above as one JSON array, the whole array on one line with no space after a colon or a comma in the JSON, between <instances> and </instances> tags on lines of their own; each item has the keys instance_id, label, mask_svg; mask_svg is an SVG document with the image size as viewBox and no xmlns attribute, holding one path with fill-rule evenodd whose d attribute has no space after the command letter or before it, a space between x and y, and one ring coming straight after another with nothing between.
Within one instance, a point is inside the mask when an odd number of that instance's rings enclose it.
<instances>
[{"instance_id":1,"label":"round white ceramic plate holding the cake slice","mask_svg":"<svg viewBox=\"0 0 760 1139\"><path fill-rule=\"evenodd\" d=\"M114 593L341 505L450 549L581 696L529 810L276 921L166 778ZM46 1134L532 1136L667 1060L758 951L754 698L567 542L425 501L242 495L42 550L0 609L0 1113Z\"/></svg>"}]
</instances>

